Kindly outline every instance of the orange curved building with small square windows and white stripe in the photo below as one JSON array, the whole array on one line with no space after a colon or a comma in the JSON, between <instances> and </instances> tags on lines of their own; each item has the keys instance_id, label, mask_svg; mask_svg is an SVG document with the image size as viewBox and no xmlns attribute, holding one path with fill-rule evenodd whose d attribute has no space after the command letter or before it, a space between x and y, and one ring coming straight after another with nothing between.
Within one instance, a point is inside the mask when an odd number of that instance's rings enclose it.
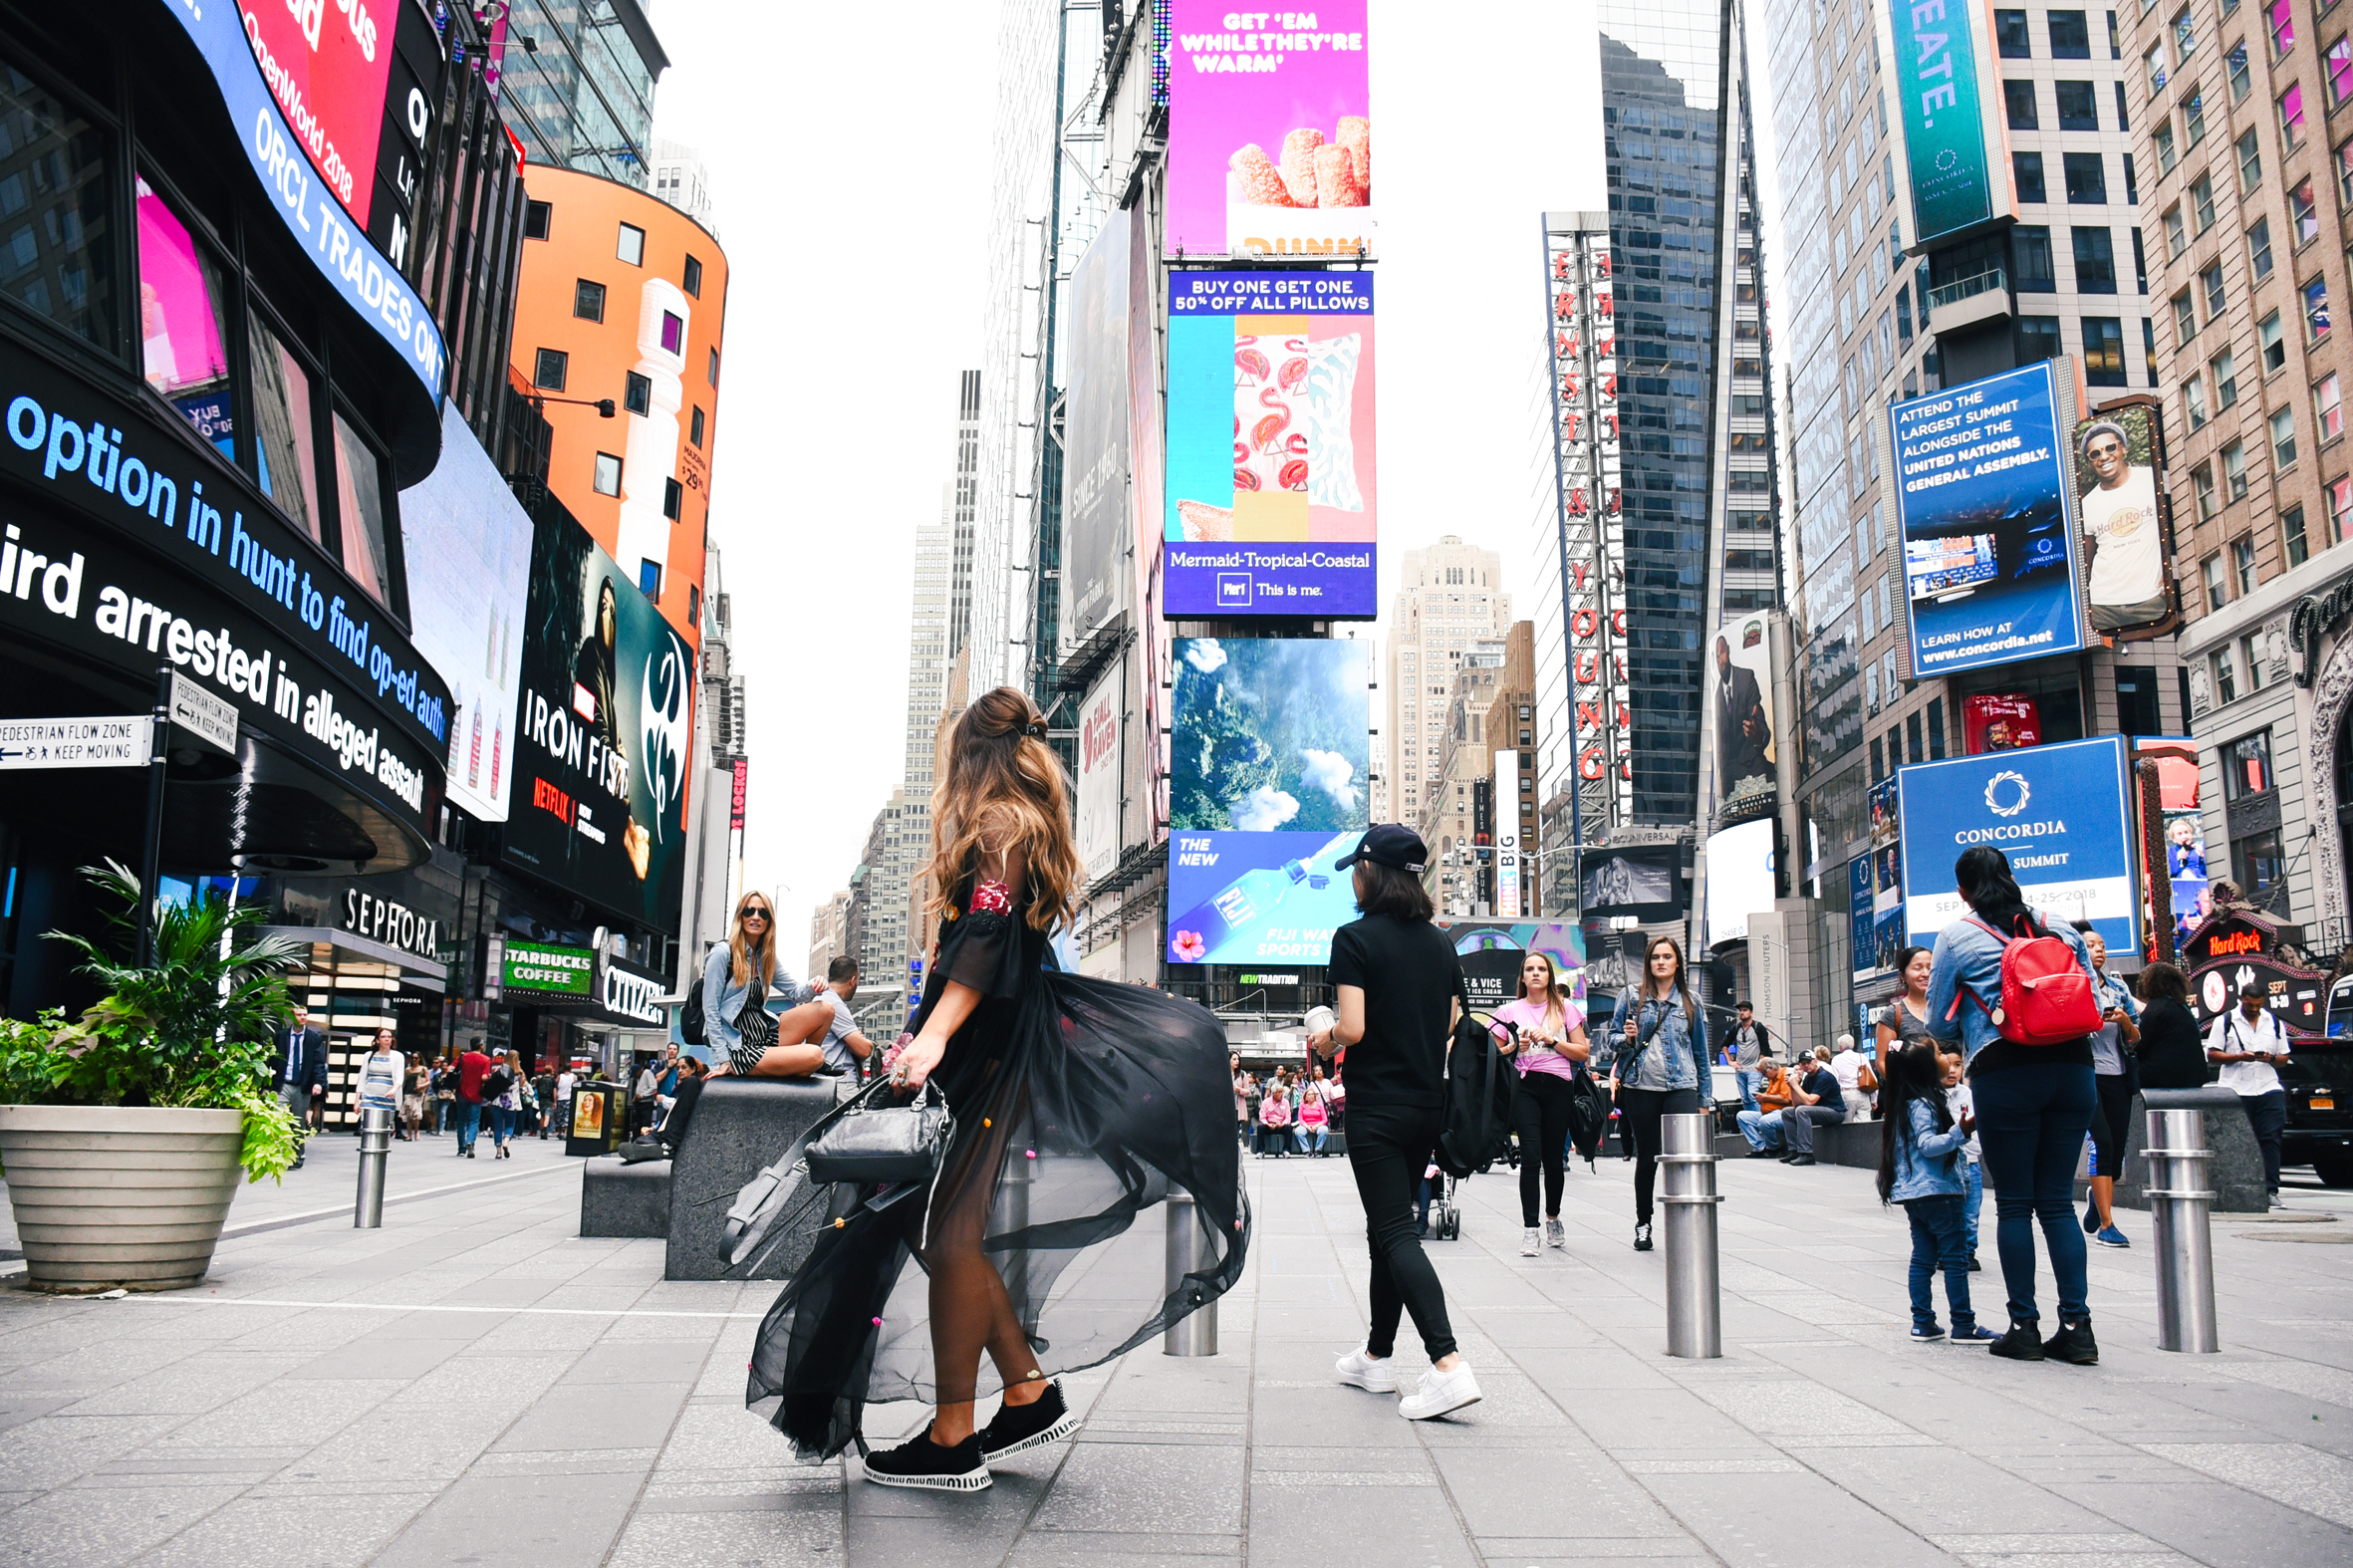
<instances>
[{"instance_id":1,"label":"orange curved building with small square windows and white stripe","mask_svg":"<svg viewBox=\"0 0 2353 1568\"><path fill-rule=\"evenodd\" d=\"M513 363L548 400L548 490L701 647L727 254L635 186L534 165L522 188Z\"/></svg>"}]
</instances>

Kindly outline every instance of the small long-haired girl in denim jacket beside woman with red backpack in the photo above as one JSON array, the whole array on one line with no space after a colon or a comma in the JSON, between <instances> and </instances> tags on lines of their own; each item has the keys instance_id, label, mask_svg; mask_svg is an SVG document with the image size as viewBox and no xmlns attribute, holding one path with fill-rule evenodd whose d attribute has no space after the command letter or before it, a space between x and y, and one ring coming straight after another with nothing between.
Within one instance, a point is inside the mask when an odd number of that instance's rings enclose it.
<instances>
[{"instance_id":1,"label":"small long-haired girl in denim jacket beside woman with red backpack","mask_svg":"<svg viewBox=\"0 0 2353 1568\"><path fill-rule=\"evenodd\" d=\"M1944 1271L1944 1300L1953 1309L1953 1340L1998 1340L1977 1326L1969 1307L1969 1236L1965 1222L1967 1154L1972 1123L1944 1102L1944 1069L1934 1045L1908 1045L1880 1059L1880 1203L1901 1203L1913 1229L1911 1297L1913 1340L1941 1340L1929 1278Z\"/></svg>"}]
</instances>

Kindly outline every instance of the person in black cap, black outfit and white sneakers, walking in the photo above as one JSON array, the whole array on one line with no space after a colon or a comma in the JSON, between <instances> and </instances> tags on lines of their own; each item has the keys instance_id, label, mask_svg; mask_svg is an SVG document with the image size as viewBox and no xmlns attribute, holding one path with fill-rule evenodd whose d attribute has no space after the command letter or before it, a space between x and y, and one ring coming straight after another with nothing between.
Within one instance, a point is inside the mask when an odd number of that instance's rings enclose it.
<instances>
[{"instance_id":1,"label":"person in black cap, black outfit and white sneakers, walking","mask_svg":"<svg viewBox=\"0 0 2353 1568\"><path fill-rule=\"evenodd\" d=\"M1398 1401L1405 1420L1431 1420L1478 1401L1478 1380L1454 1349L1447 1297L1414 1234L1414 1187L1438 1147L1445 1111L1447 1031L1457 1017L1461 963L1431 925L1421 888L1428 850L1421 836L1384 822L1337 866L1355 869L1362 918L1332 932L1332 984L1339 1017L1308 1038L1329 1057L1348 1048L1348 1170L1365 1203L1372 1243L1372 1333L1334 1370L1346 1384L1393 1394L1398 1316L1414 1314L1431 1370Z\"/></svg>"}]
</instances>

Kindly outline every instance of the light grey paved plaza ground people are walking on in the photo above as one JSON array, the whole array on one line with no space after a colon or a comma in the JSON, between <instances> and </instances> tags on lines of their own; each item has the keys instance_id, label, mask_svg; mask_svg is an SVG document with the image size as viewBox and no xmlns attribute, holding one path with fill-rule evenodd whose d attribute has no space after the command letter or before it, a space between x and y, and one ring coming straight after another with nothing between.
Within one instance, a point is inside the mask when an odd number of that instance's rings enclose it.
<instances>
[{"instance_id":1,"label":"light grey paved plaza ground people are walking on","mask_svg":"<svg viewBox=\"0 0 2353 1568\"><path fill-rule=\"evenodd\" d=\"M351 1144L249 1189L174 1297L0 1290L5 1563L1974 1563L2353 1561L2353 1203L2224 1220L2226 1351L2153 1349L2146 1217L2094 1248L2104 1366L1906 1342L1901 1212L1859 1170L1727 1163L1725 1358L1668 1361L1631 1168L1569 1177L1569 1245L1518 1257L1513 1177L1433 1243L1485 1403L1407 1424L1329 1382L1362 1333L1344 1161L1245 1161L1257 1248L1224 1354L1068 1380L1073 1443L976 1497L800 1469L741 1408L774 1285L666 1283L581 1241L553 1144ZM459 1184L452 1191L412 1196ZM249 1229L249 1227L268 1229ZM1986 1241L1991 1269L1991 1236ZM1998 1274L1979 1274L1998 1316ZM1400 1347L1400 1366L1417 1361ZM920 1420L875 1410L882 1427Z\"/></svg>"}]
</instances>

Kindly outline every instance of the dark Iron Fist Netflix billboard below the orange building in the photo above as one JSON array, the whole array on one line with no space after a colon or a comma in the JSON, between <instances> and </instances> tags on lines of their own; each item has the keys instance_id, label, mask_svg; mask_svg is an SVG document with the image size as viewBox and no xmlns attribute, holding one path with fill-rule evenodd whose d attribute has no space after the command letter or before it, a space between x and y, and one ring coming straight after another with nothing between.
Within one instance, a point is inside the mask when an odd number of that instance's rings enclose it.
<instances>
[{"instance_id":1,"label":"dark Iron Fist Netflix billboard below the orange building","mask_svg":"<svg viewBox=\"0 0 2353 1568\"><path fill-rule=\"evenodd\" d=\"M532 544L506 862L678 935L694 655L612 556L551 513Z\"/></svg>"}]
</instances>

